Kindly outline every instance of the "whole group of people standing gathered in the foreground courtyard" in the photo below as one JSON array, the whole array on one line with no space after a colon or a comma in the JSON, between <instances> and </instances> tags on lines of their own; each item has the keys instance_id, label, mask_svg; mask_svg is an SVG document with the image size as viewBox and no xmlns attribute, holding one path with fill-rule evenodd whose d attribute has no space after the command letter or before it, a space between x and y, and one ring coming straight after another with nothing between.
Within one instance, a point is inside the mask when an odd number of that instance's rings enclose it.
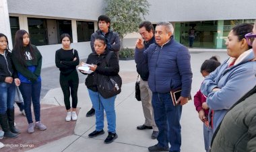
<instances>
[{"instance_id":1,"label":"whole group of people standing gathered in the foreground courtyard","mask_svg":"<svg viewBox=\"0 0 256 152\"><path fill-rule=\"evenodd\" d=\"M98 91L98 77L119 74L118 51L121 42L117 32L110 30L110 19L106 15L98 17L98 27L99 30L91 36L92 53L86 61L92 73L80 72L88 75L85 83L92 101L92 109L86 116L96 115L96 129L88 136L93 138L104 134L105 111L108 136L104 143L108 144L118 137L115 113L117 95L104 98ZM142 38L136 42L135 63L140 75L145 122L137 129L153 129L151 138L157 139L158 143L148 147L149 151L181 151L181 113L183 105L187 104L191 96L193 74L189 50L174 40L173 33L174 28L169 22L159 22L155 29L148 21L139 25ZM232 28L226 41L230 58L220 64L213 56L201 65L201 74L205 79L194 96L194 103L199 119L203 122L205 151L256 149L255 38L256 22L254 26L239 24ZM71 42L69 34L62 34L63 47L55 54L67 122L77 120L79 78L76 67L85 64L79 63L78 52L71 48ZM36 46L30 43L28 32L16 32L12 51L8 48L7 37L0 34L0 54L0 124L3 136L15 138L20 134L14 125L15 86L20 87L24 98L27 132L34 132L34 128L46 130L40 121L42 56ZM181 90L181 96L177 99L179 104L174 105L170 92L177 89ZM31 103L35 123L32 120Z\"/></svg>"}]
</instances>

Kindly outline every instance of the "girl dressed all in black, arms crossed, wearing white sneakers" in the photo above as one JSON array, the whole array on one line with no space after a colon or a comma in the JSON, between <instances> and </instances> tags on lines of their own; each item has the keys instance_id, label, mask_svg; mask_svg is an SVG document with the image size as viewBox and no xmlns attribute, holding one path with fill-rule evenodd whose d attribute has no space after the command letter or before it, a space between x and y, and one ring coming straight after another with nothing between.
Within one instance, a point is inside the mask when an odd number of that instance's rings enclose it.
<instances>
[{"instance_id":1,"label":"girl dressed all in black, arms crossed, wearing white sneakers","mask_svg":"<svg viewBox=\"0 0 256 152\"><path fill-rule=\"evenodd\" d=\"M77 89L79 78L76 66L79 65L79 56L77 50L70 47L71 36L69 34L61 35L62 48L55 53L56 67L61 71L59 75L59 83L64 95L64 102L67 110L66 121L77 120ZM70 93L72 98L72 112L70 107Z\"/></svg>"}]
</instances>

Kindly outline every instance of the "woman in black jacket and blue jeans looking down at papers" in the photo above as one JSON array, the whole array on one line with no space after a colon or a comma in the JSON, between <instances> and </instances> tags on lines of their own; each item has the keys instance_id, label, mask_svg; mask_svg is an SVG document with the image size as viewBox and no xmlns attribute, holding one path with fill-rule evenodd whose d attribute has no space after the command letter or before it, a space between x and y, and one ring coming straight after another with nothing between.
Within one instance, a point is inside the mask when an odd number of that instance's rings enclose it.
<instances>
[{"instance_id":1,"label":"woman in black jacket and blue jeans looking down at papers","mask_svg":"<svg viewBox=\"0 0 256 152\"><path fill-rule=\"evenodd\" d=\"M119 61L115 53L112 53L108 61L108 66L105 63L106 56L111 53L106 48L106 39L102 35L98 35L94 41L95 52L92 52L86 61L93 73L90 73L86 78L86 86L88 87L89 96L92 100L92 105L95 108L96 114L96 130L90 133L88 136L90 138L96 137L98 135L104 134L104 110L106 112L106 120L108 122L108 137L106 137L104 143L112 143L117 139L116 133L116 114L115 114L115 98L113 96L110 98L103 98L97 89L97 75L117 75L119 73ZM82 67L84 63L80 66ZM82 73L87 73L88 71L80 70Z\"/></svg>"}]
</instances>

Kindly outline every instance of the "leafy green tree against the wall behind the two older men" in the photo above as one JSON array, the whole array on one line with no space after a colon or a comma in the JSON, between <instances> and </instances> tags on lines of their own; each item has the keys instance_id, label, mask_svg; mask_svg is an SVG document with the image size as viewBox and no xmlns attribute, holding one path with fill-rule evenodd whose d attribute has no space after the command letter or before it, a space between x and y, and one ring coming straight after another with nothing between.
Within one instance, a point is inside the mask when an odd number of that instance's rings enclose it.
<instances>
[{"instance_id":1,"label":"leafy green tree against the wall behind the two older men","mask_svg":"<svg viewBox=\"0 0 256 152\"><path fill-rule=\"evenodd\" d=\"M111 27L119 33L121 48L123 37L131 32L137 32L142 17L148 14L150 3L147 0L106 0L106 15L111 19Z\"/></svg>"}]
</instances>

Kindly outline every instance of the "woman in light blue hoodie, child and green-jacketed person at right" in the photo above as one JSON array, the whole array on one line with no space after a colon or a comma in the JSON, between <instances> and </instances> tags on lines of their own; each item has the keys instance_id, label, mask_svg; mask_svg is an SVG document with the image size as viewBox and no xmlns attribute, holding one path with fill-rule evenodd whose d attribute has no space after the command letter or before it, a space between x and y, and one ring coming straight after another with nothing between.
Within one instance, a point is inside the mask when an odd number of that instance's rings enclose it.
<instances>
[{"instance_id":1,"label":"woman in light blue hoodie, child and green-jacketed person at right","mask_svg":"<svg viewBox=\"0 0 256 152\"><path fill-rule=\"evenodd\" d=\"M253 33L252 33L253 32ZM201 66L205 77L195 95L195 108L203 123L205 151L253 151L255 140L256 22L238 24L226 41L230 56ZM253 47L253 49L252 49ZM209 71L211 73L209 73ZM250 98L247 100L247 98Z\"/></svg>"}]
</instances>

